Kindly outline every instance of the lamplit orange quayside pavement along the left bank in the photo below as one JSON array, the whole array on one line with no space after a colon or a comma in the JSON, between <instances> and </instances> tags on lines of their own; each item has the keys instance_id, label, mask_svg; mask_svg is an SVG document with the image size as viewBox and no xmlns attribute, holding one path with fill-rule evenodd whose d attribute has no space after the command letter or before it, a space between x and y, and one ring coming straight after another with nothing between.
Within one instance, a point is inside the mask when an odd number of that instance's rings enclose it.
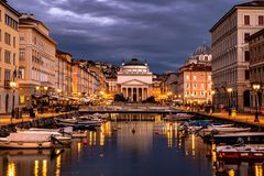
<instances>
[{"instance_id":1,"label":"lamplit orange quayside pavement along the left bank","mask_svg":"<svg viewBox=\"0 0 264 176\"><path fill-rule=\"evenodd\" d=\"M73 113L73 112L36 113L34 119L31 119L30 114L23 114L23 119L12 119L12 123L20 123L20 122L22 122L22 120L24 122L28 122L28 121L33 121L35 119L51 118L51 117L57 117L61 114L68 114L68 113ZM0 127L7 125L10 123L11 123L11 114L0 114Z\"/></svg>"}]
</instances>

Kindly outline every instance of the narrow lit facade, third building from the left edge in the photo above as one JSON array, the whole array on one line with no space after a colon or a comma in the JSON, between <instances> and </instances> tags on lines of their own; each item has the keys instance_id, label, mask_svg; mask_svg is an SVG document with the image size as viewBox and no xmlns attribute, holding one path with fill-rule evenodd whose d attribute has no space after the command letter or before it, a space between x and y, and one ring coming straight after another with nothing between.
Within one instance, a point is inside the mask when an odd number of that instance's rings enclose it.
<instances>
[{"instance_id":1,"label":"narrow lit facade, third building from the left edge","mask_svg":"<svg viewBox=\"0 0 264 176\"><path fill-rule=\"evenodd\" d=\"M56 88L61 98L67 99L73 92L72 55L56 51Z\"/></svg>"}]
</instances>

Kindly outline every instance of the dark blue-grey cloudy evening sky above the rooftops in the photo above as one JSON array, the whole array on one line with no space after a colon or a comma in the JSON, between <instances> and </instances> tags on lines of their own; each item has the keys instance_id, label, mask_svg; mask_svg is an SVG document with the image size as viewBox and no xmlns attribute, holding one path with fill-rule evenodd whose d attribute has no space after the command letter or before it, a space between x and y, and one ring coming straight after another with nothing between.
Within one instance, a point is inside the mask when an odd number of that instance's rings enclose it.
<instances>
[{"instance_id":1,"label":"dark blue-grey cloudy evening sky above the rooftops","mask_svg":"<svg viewBox=\"0 0 264 176\"><path fill-rule=\"evenodd\" d=\"M8 0L51 29L58 48L75 58L121 64L147 61L156 73L175 70L209 29L245 0Z\"/></svg>"}]
</instances>

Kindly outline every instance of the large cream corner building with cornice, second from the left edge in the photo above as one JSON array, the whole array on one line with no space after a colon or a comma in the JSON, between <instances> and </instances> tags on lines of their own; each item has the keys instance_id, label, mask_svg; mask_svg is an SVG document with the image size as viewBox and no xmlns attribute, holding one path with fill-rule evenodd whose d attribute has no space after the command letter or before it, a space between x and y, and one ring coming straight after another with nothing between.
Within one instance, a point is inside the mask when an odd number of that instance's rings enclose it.
<instances>
[{"instance_id":1,"label":"large cream corner building with cornice, second from the left edge","mask_svg":"<svg viewBox=\"0 0 264 176\"><path fill-rule=\"evenodd\" d=\"M47 26L33 14L19 23L20 106L37 106L37 98L56 91L56 42Z\"/></svg>"}]
</instances>

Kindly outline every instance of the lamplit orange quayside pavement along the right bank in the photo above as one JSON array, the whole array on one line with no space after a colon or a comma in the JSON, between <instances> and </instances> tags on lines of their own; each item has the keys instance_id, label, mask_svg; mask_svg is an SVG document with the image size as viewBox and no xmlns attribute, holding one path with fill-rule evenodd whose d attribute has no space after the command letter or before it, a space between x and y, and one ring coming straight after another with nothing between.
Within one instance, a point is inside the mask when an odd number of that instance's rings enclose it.
<instances>
[{"instance_id":1,"label":"lamplit orange quayside pavement along the right bank","mask_svg":"<svg viewBox=\"0 0 264 176\"><path fill-rule=\"evenodd\" d=\"M237 121L237 122L242 122L242 123L248 123L248 124L253 124L253 125L258 125L258 127L264 127L264 116L258 114L258 120L260 122L254 122L255 116L254 114L243 114L243 113L238 113L237 117L229 117L228 112L218 112L218 113L209 113L207 116L211 116L215 118L219 119L227 119L231 121Z\"/></svg>"}]
</instances>

